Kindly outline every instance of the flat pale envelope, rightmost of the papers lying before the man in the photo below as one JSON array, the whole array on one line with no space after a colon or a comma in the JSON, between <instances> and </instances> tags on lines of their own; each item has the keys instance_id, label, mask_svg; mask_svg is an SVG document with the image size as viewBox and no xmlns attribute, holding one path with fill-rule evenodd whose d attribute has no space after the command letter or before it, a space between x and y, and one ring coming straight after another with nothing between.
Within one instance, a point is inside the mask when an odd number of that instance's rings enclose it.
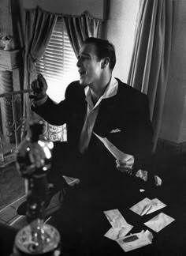
<instances>
[{"instance_id":1,"label":"flat pale envelope, rightmost of the papers lying before the man","mask_svg":"<svg viewBox=\"0 0 186 256\"><path fill-rule=\"evenodd\" d=\"M171 216L166 215L165 213L159 213L157 216L154 216L151 220L148 220L144 224L154 230L154 232L159 232L162 230L162 228L165 228L171 222L173 222L173 219Z\"/></svg>"}]
</instances>

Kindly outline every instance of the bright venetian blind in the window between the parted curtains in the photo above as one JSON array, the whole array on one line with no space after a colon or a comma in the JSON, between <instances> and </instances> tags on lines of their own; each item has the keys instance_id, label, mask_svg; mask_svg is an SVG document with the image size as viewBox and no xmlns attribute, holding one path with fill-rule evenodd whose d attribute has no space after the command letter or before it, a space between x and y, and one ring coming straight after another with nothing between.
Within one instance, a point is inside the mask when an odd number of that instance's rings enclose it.
<instances>
[{"instance_id":1,"label":"bright venetian blind in the window between the parted curtains","mask_svg":"<svg viewBox=\"0 0 186 256\"><path fill-rule=\"evenodd\" d=\"M47 94L55 102L64 99L70 82L78 80L76 55L66 32L65 22L58 18L43 57L36 63L39 73L47 80Z\"/></svg>"}]
</instances>

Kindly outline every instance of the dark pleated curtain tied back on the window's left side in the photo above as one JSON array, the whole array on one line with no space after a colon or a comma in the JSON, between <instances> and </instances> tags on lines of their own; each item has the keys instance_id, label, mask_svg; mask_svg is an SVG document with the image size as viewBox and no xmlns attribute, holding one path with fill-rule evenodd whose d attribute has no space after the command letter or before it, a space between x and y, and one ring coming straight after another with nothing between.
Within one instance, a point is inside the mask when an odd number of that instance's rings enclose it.
<instances>
[{"instance_id":1,"label":"dark pleated curtain tied back on the window's left side","mask_svg":"<svg viewBox=\"0 0 186 256\"><path fill-rule=\"evenodd\" d=\"M35 62L47 47L57 17L39 7L25 12L24 89L28 89L36 77ZM24 96L24 117L29 119L29 116L30 104L28 96Z\"/></svg>"}]
</instances>

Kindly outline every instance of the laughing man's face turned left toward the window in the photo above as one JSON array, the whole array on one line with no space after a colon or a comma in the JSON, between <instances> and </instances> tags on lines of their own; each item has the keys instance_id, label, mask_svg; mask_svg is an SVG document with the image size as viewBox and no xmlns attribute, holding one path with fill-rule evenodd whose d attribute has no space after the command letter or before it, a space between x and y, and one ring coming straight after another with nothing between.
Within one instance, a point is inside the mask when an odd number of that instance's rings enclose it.
<instances>
[{"instance_id":1,"label":"laughing man's face turned left toward the window","mask_svg":"<svg viewBox=\"0 0 186 256\"><path fill-rule=\"evenodd\" d=\"M95 85L99 82L102 68L93 43L84 44L80 49L76 66L80 73L80 85Z\"/></svg>"}]
</instances>

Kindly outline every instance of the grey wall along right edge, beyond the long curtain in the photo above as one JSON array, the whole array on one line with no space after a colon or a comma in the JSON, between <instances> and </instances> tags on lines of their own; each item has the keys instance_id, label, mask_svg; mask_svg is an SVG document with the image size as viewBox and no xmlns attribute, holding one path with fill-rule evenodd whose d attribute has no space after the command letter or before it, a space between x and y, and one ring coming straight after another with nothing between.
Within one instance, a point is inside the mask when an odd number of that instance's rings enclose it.
<instances>
[{"instance_id":1,"label":"grey wall along right edge, beyond the long curtain","mask_svg":"<svg viewBox=\"0 0 186 256\"><path fill-rule=\"evenodd\" d=\"M160 137L186 141L186 1L174 2L173 44Z\"/></svg>"}]
</instances>

